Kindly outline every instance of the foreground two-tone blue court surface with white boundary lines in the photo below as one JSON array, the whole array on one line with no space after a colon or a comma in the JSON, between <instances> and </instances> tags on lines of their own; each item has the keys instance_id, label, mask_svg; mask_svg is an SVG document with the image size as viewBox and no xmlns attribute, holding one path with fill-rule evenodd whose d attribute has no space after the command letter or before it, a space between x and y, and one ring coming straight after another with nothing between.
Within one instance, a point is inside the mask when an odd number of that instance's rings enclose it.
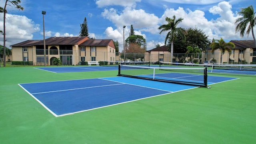
<instances>
[{"instance_id":1,"label":"foreground two-tone blue court surface with white boundary lines","mask_svg":"<svg viewBox=\"0 0 256 144\"><path fill-rule=\"evenodd\" d=\"M236 78L208 76L208 84L233 79ZM54 116L64 116L196 88L196 86L191 85L130 77L23 83L19 85Z\"/></svg>"}]
</instances>

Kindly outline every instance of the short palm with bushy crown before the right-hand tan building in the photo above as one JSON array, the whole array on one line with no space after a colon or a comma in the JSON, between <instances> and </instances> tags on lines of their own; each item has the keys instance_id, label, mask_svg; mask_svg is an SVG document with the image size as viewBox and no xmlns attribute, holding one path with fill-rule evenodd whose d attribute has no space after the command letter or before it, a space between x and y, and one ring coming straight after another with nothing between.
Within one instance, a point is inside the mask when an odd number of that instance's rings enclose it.
<instances>
[{"instance_id":1,"label":"short palm with bushy crown before the right-hand tan building","mask_svg":"<svg viewBox=\"0 0 256 144\"><path fill-rule=\"evenodd\" d=\"M226 43L222 38L220 38L220 40L214 40L214 42L210 44L210 47L212 48L212 53L216 49L220 49L220 63L222 63L222 55L225 53L225 51L228 51L229 53L231 53L230 47L234 48L235 44L232 42Z\"/></svg>"}]
</instances>

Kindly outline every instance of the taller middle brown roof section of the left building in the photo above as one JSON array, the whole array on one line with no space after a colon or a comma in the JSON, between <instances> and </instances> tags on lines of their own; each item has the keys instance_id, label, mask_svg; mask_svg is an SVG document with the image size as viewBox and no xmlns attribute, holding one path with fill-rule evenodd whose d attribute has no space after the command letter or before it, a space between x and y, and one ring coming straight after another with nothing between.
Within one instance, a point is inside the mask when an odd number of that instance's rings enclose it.
<instances>
[{"instance_id":1,"label":"taller middle brown roof section of the left building","mask_svg":"<svg viewBox=\"0 0 256 144\"><path fill-rule=\"evenodd\" d=\"M45 39L46 45L79 45L86 41L88 37L49 37ZM34 45L44 45L44 41L34 43Z\"/></svg>"}]
</instances>

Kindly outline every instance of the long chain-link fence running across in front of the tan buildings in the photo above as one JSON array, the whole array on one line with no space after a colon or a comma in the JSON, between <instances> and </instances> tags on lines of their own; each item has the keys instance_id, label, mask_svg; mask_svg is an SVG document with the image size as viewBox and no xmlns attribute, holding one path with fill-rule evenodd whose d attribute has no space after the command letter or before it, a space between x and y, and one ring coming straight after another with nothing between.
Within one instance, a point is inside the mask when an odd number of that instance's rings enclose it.
<instances>
[{"instance_id":1,"label":"long chain-link fence running across in front of the tan buildings","mask_svg":"<svg viewBox=\"0 0 256 144\"><path fill-rule=\"evenodd\" d=\"M29 61L33 65L44 65L43 49L28 49L13 53L11 61ZM62 65L81 65L86 61L163 61L185 63L193 61L194 63L203 63L204 61L214 61L214 63L256 63L256 51L232 52L232 53L174 53L173 59L169 52L151 53L114 53L107 51L74 51L74 50L46 50L47 65L55 65L54 59L59 58Z\"/></svg>"}]
</instances>

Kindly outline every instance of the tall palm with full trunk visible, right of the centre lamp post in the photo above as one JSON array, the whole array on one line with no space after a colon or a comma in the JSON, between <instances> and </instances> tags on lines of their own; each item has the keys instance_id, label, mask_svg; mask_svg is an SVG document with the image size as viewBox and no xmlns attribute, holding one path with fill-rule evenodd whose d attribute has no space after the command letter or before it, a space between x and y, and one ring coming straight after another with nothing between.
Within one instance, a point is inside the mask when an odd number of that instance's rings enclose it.
<instances>
[{"instance_id":1,"label":"tall palm with full trunk visible, right of the centre lamp post","mask_svg":"<svg viewBox=\"0 0 256 144\"><path fill-rule=\"evenodd\" d=\"M158 29L161 30L160 34L162 32L168 32L166 37L165 37L165 41L164 44L166 45L166 41L168 39L170 39L171 41L171 62L172 62L172 57L173 57L173 42L174 39L176 37L176 34L179 34L182 37L182 40L186 40L186 36L185 36L185 31L182 28L177 28L177 25L182 22L183 18L178 18L176 20L175 15L171 18L166 17L165 18L166 22L168 22L168 24L163 24L162 26L160 26Z\"/></svg>"}]
</instances>

